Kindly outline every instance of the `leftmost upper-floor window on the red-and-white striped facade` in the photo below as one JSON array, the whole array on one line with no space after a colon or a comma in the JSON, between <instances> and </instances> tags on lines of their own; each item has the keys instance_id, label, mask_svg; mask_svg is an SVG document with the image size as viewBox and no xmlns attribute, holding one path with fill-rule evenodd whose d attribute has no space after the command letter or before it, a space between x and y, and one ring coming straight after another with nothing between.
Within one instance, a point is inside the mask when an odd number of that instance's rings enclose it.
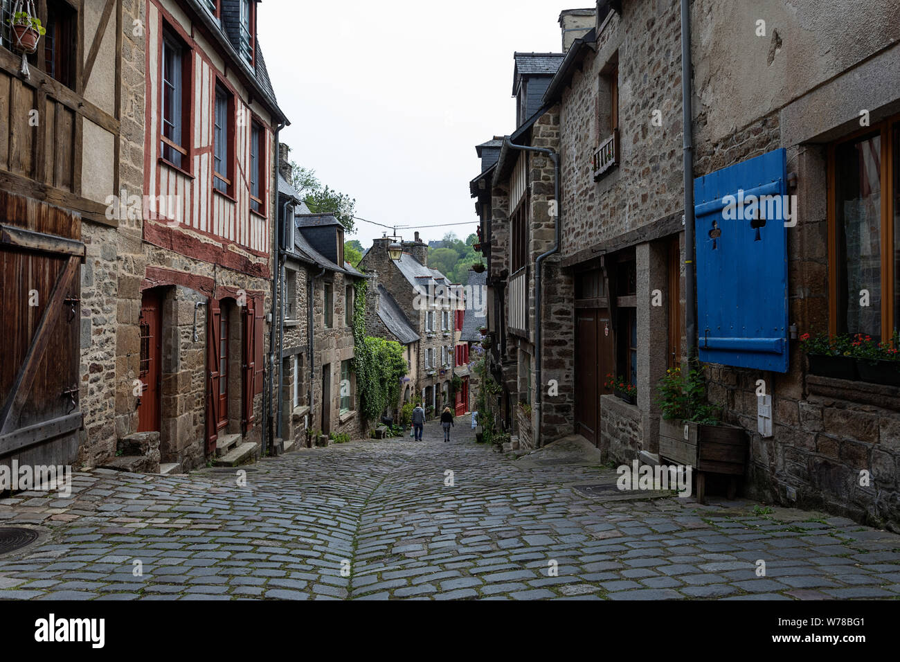
<instances>
[{"instance_id":1,"label":"leftmost upper-floor window on the red-and-white striped facade","mask_svg":"<svg viewBox=\"0 0 900 662\"><path fill-rule=\"evenodd\" d=\"M185 81L190 79L188 68L189 51L175 34L163 32L163 134L160 139L162 158L177 168L187 166L188 134L185 127L190 104L189 87ZM187 74L187 75L185 75Z\"/></svg>"}]
</instances>

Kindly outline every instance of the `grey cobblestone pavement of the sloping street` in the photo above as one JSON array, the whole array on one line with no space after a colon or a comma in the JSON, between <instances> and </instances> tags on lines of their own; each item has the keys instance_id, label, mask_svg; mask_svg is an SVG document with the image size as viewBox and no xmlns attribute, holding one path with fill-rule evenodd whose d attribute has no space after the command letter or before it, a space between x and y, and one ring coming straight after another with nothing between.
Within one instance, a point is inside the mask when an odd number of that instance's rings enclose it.
<instances>
[{"instance_id":1,"label":"grey cobblestone pavement of the sloping street","mask_svg":"<svg viewBox=\"0 0 900 662\"><path fill-rule=\"evenodd\" d=\"M71 498L0 500L0 526L47 531L0 558L0 598L900 597L895 534L749 502L590 497L574 485L614 471L527 468L460 422L450 443L429 423L422 442L266 458L246 486L234 470L92 470Z\"/></svg>"}]
</instances>

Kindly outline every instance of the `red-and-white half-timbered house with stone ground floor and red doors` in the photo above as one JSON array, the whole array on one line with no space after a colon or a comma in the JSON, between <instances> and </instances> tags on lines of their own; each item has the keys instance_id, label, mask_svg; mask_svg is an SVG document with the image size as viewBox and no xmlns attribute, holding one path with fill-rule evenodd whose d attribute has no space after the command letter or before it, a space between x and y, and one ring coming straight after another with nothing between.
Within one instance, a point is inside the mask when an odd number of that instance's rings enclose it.
<instances>
[{"instance_id":1,"label":"red-and-white half-timbered house with stone ground floor and red doors","mask_svg":"<svg viewBox=\"0 0 900 662\"><path fill-rule=\"evenodd\" d=\"M82 458L146 469L157 437L164 471L243 461L266 426L273 164L286 122L257 2L122 8L124 177L110 206L124 213L86 238L96 249L82 275Z\"/></svg>"}]
</instances>

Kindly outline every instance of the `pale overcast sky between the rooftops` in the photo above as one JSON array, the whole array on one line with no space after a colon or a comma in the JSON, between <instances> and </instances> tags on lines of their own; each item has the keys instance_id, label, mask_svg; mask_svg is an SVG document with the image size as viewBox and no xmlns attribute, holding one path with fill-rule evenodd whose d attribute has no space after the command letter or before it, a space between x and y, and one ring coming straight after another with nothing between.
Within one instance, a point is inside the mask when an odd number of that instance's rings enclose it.
<instances>
[{"instance_id":1,"label":"pale overcast sky between the rooftops","mask_svg":"<svg viewBox=\"0 0 900 662\"><path fill-rule=\"evenodd\" d=\"M299 165L356 215L424 240L475 230L475 145L515 131L513 52L559 52L590 0L267 0L259 40ZM449 226L464 222L465 225ZM426 228L424 226L439 227ZM356 222L364 247L383 229Z\"/></svg>"}]
</instances>

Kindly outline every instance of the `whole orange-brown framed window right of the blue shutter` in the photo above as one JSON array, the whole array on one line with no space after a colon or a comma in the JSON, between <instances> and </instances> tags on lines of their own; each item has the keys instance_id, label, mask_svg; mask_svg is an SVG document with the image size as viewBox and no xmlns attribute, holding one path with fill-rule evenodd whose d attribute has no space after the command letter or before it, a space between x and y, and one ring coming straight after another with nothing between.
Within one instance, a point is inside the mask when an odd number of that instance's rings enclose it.
<instances>
[{"instance_id":1,"label":"whole orange-brown framed window right of the blue shutter","mask_svg":"<svg viewBox=\"0 0 900 662\"><path fill-rule=\"evenodd\" d=\"M900 328L900 121L833 145L829 177L830 331L888 340Z\"/></svg>"}]
</instances>

